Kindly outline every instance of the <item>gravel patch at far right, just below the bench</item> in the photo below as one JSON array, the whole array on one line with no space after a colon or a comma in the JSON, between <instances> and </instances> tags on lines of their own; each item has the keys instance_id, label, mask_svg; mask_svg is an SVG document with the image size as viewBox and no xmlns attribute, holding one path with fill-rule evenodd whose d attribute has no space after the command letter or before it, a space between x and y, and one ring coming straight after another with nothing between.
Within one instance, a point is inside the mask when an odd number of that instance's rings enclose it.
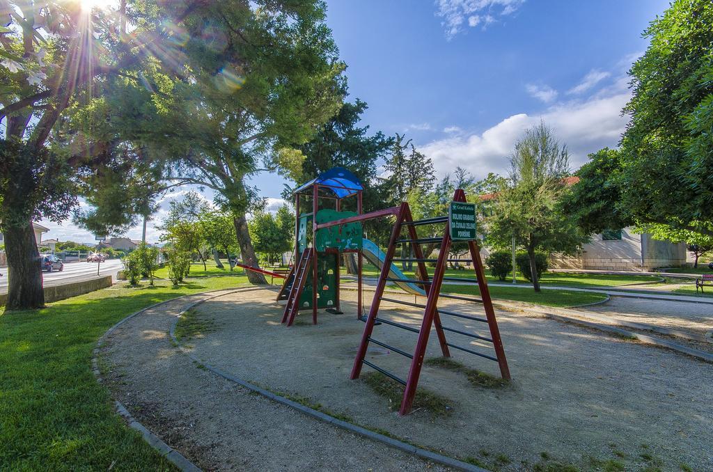
<instances>
[{"instance_id":1,"label":"gravel patch at far right, just below the bench","mask_svg":"<svg viewBox=\"0 0 713 472\"><path fill-rule=\"evenodd\" d=\"M605 304L578 308L578 310L694 334L705 334L713 329L711 304L612 297Z\"/></svg>"}]
</instances>

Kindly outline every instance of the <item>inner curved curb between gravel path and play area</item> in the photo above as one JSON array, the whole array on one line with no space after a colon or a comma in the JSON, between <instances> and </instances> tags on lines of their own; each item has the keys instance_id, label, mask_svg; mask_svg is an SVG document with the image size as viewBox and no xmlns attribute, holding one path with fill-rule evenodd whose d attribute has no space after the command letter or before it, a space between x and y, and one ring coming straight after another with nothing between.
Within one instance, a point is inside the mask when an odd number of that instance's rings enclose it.
<instances>
[{"instance_id":1,"label":"inner curved curb between gravel path and play area","mask_svg":"<svg viewBox=\"0 0 713 472\"><path fill-rule=\"evenodd\" d=\"M372 441L378 441L380 443L384 443L387 446L391 446L393 448L400 449L401 451L406 451L408 453L411 453L411 454L414 454L421 458L424 458L428 461L440 463L440 464L443 464L444 466L453 467L453 468L456 468L461 471L488 472L488 471L486 471L486 469L478 467L478 466L474 466L473 464L469 464L469 463L466 463L463 461L458 461L458 459L451 458L448 456L443 456L441 454L434 453L432 451L427 451L426 449L422 449L422 448L413 446L409 443L404 443L403 441L399 441L398 439L390 438L389 436L384 436L383 434L375 433L374 431L366 429L362 426L358 426L356 424L351 424L351 423L348 423L347 421L342 421L340 419L334 418L334 416L329 416L328 414L324 414L324 413L322 413L322 411L317 411L315 409L309 408L309 406L304 406L304 405L299 404L295 401L286 399L286 398L284 398L284 396L279 396L277 394L272 393L271 391L262 389L259 386L250 384L250 382L239 379L236 376L233 376L231 374L227 374L226 372L223 372L220 369L217 369L217 367L212 366L210 364L206 364L201 359L198 359L198 357L194 356L187 349L185 349L185 347L183 347L183 345L180 344L178 339L175 337L176 325L178 324L178 320L180 319L180 317L183 316L183 314L185 314L185 312L188 312L189 309L192 309L193 307L196 307L197 305L199 305L203 302L207 302L208 300L210 300L212 298L222 297L223 295L224 294L216 295L215 297L209 297L206 299L202 299L198 302L195 302L193 304L190 304L182 312L180 312L178 314L178 316L176 316L175 322L173 322L173 324L171 324L171 329L170 329L171 340L175 343L176 347L178 347L180 352L183 352L183 354L188 356L191 360L200 364L202 367L205 367L205 369L208 369L213 374L221 376L223 379L226 379L228 381L232 381L235 384L238 384L238 385L244 387L245 389L254 391L257 394L265 396L265 398L267 398L267 399L276 401L277 403L283 404L285 406L289 406L290 408L300 411L308 416L312 416L315 419L319 419L320 421L324 421L325 423L333 424L334 426L338 426L339 428L345 429L347 431L351 431L352 433L359 434L360 436L369 438Z\"/></svg>"}]
</instances>

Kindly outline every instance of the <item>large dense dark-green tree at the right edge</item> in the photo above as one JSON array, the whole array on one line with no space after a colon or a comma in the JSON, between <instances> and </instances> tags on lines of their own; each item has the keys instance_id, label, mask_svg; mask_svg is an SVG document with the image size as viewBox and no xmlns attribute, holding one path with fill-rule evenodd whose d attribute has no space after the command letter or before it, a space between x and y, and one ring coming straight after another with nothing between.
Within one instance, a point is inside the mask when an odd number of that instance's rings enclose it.
<instances>
[{"instance_id":1,"label":"large dense dark-green tree at the right edge","mask_svg":"<svg viewBox=\"0 0 713 472\"><path fill-rule=\"evenodd\" d=\"M580 222L713 235L701 224L713 220L712 24L710 1L678 0L646 29L620 149L593 155L579 173L570 207L580 208Z\"/></svg>"}]
</instances>

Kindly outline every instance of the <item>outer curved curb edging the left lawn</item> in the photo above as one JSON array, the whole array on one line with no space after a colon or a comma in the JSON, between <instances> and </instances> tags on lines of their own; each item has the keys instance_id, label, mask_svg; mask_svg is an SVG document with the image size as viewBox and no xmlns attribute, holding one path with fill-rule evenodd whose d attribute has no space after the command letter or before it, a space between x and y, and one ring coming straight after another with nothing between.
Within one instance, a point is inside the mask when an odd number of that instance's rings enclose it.
<instances>
[{"instance_id":1,"label":"outer curved curb edging the left lawn","mask_svg":"<svg viewBox=\"0 0 713 472\"><path fill-rule=\"evenodd\" d=\"M143 312L146 312L150 309L153 309L155 307L158 307L162 304L166 304L169 302L175 302L176 300L185 298L185 297L195 297L196 295L203 295L211 292L220 292L220 291L225 291L226 289L217 289L217 290L209 290L208 292L200 292L200 293L195 293L195 294L190 294L190 295L183 295L182 297L175 297L172 299L165 300L164 302L158 302L153 305L150 305L148 307L145 307L143 309L140 309L138 312L134 312L128 317L125 317L124 319L121 319L118 323L114 324L113 327L109 328L101 338L98 339L96 342L96 347L94 347L94 350L92 352L92 359L91 359L91 365L92 365L92 371L94 376L96 376L96 379L99 381L99 383L103 384L103 379L101 378L101 372L99 371L99 365L98 365L98 360L97 357L99 355L99 352L101 351L101 347L103 346L104 342L106 342L106 339L122 324L125 322L128 322L128 320L132 319L133 317L142 314ZM228 289L230 290L230 289ZM227 293L232 293L237 291L237 289L232 290L231 292ZM226 293L226 294L227 294ZM216 295L217 297L218 295ZM193 304L191 305L193 306ZM198 466L195 466L195 464L191 461L189 461L187 458L185 458L180 452L176 451L174 448L171 446L168 446L167 443L163 442L161 438L156 436L154 433L152 433L148 428L143 426L139 421L137 421L126 409L126 407L118 400L114 401L114 404L116 406L116 412L127 422L128 426L132 429L135 429L139 433L141 433L141 436L143 436L144 441L146 441L149 446L153 447L158 453L160 453L162 456L167 458L171 463L173 463L176 467L178 467L181 471L183 472L200 472L201 469L198 468Z\"/></svg>"}]
</instances>

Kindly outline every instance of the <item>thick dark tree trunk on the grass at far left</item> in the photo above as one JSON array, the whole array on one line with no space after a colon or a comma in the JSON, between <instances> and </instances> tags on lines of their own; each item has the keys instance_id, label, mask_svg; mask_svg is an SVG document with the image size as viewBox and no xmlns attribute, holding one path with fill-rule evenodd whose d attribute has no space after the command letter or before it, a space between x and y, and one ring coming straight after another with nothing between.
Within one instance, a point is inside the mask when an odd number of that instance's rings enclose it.
<instances>
[{"instance_id":1,"label":"thick dark tree trunk on the grass at far left","mask_svg":"<svg viewBox=\"0 0 713 472\"><path fill-rule=\"evenodd\" d=\"M32 222L7 225L4 235L9 284L6 309L43 307L42 270Z\"/></svg>"}]
</instances>

